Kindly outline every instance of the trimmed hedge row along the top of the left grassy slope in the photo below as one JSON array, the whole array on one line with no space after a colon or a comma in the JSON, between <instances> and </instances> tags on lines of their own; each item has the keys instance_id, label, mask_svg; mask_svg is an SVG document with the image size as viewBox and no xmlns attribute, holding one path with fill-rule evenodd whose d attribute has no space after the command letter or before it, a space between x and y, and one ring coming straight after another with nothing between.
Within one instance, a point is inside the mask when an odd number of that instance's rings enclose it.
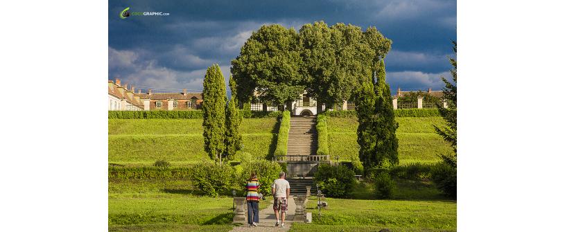
<instances>
[{"instance_id":1,"label":"trimmed hedge row along the top of the left grassy slope","mask_svg":"<svg viewBox=\"0 0 565 232\"><path fill-rule=\"evenodd\" d=\"M280 111L251 111L241 109L243 118L275 118L281 116ZM152 111L108 111L108 119L138 119L138 118L159 118L159 119L192 119L202 118L202 110L152 110Z\"/></svg>"}]
</instances>

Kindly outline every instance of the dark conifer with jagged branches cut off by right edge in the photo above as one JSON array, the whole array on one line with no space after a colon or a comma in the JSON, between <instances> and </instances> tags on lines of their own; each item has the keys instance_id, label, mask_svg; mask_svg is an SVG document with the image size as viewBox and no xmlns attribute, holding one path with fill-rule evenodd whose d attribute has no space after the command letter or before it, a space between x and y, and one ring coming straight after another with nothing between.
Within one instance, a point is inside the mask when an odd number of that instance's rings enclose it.
<instances>
[{"instance_id":1,"label":"dark conifer with jagged branches cut off by right edge","mask_svg":"<svg viewBox=\"0 0 565 232\"><path fill-rule=\"evenodd\" d=\"M453 43L453 53L457 55L457 42ZM435 132L440 134L444 138L445 141L451 144L451 148L453 148L454 154L442 154L442 159L452 166L453 168L457 167L457 60L455 58L450 57L449 62L453 68L451 69L451 79L453 83L446 80L446 78L442 77L443 82L445 83L445 87L443 89L444 100L447 101L447 108L444 108L440 105L437 107L440 109L440 114L447 122L447 127L435 127Z\"/></svg>"}]
</instances>

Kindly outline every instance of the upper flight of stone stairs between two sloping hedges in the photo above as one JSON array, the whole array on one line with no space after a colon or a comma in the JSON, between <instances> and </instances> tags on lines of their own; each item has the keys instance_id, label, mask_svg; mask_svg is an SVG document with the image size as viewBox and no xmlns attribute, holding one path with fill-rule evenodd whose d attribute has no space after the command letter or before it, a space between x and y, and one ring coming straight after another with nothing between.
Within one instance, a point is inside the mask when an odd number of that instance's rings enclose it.
<instances>
[{"instance_id":1,"label":"upper flight of stone stairs between two sloping hedges","mask_svg":"<svg viewBox=\"0 0 565 232\"><path fill-rule=\"evenodd\" d=\"M315 116L290 118L286 154L315 155L316 150L318 150L318 131Z\"/></svg>"}]
</instances>

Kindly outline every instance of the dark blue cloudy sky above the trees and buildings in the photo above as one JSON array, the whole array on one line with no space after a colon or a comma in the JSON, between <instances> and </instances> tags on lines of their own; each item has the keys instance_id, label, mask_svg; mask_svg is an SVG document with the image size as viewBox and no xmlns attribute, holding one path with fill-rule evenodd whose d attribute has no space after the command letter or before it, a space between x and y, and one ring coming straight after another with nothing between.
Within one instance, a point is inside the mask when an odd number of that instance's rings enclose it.
<instances>
[{"instance_id":1,"label":"dark blue cloudy sky above the trees and buildings","mask_svg":"<svg viewBox=\"0 0 565 232\"><path fill-rule=\"evenodd\" d=\"M324 21L376 28L392 40L385 58L392 94L441 89L449 79L456 1L108 1L108 80L146 91L202 90L211 64L228 80L231 60L254 30L281 24L299 30ZM130 17L120 12L130 8ZM164 12L168 15L134 15Z\"/></svg>"}]
</instances>

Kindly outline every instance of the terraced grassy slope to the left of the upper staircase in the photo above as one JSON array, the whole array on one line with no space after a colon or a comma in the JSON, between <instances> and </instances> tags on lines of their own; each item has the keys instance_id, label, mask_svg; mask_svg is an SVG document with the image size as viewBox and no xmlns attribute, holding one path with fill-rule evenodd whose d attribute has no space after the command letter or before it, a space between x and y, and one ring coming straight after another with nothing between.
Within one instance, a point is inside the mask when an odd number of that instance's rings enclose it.
<instances>
[{"instance_id":1,"label":"terraced grassy slope to the left of the upper staircase","mask_svg":"<svg viewBox=\"0 0 565 232\"><path fill-rule=\"evenodd\" d=\"M268 157L277 133L277 118L244 118L243 152ZM108 161L150 165L165 159L175 166L207 160L202 119L110 119Z\"/></svg>"}]
</instances>

